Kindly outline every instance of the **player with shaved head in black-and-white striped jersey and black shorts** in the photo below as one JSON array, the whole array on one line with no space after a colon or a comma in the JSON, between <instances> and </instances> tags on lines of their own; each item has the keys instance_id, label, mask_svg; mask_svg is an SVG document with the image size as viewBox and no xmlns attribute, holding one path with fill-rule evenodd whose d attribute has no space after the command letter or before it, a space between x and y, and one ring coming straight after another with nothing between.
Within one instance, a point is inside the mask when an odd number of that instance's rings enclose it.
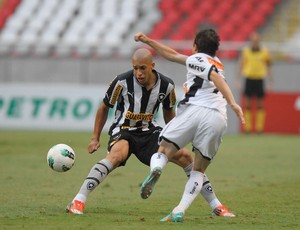
<instances>
[{"instance_id":1,"label":"player with shaved head in black-and-white striped jersey and black shorts","mask_svg":"<svg viewBox=\"0 0 300 230\"><path fill-rule=\"evenodd\" d=\"M160 131L155 120L162 104L164 120L168 123L174 116L176 103L174 82L157 72L152 54L147 49L138 49L132 57L133 69L118 75L110 84L96 114L89 153L100 147L100 136L108 111L116 105L115 119L109 135L108 154L95 164L84 180L78 194L67 206L71 214L83 214L88 195L119 166L124 166L131 153L145 165L150 165L151 156L158 150ZM187 176L190 175L193 158L183 148L170 159L181 166ZM209 203L214 213L219 216L234 216L223 207L216 197L207 177L203 181L201 194Z\"/></svg>"}]
</instances>

